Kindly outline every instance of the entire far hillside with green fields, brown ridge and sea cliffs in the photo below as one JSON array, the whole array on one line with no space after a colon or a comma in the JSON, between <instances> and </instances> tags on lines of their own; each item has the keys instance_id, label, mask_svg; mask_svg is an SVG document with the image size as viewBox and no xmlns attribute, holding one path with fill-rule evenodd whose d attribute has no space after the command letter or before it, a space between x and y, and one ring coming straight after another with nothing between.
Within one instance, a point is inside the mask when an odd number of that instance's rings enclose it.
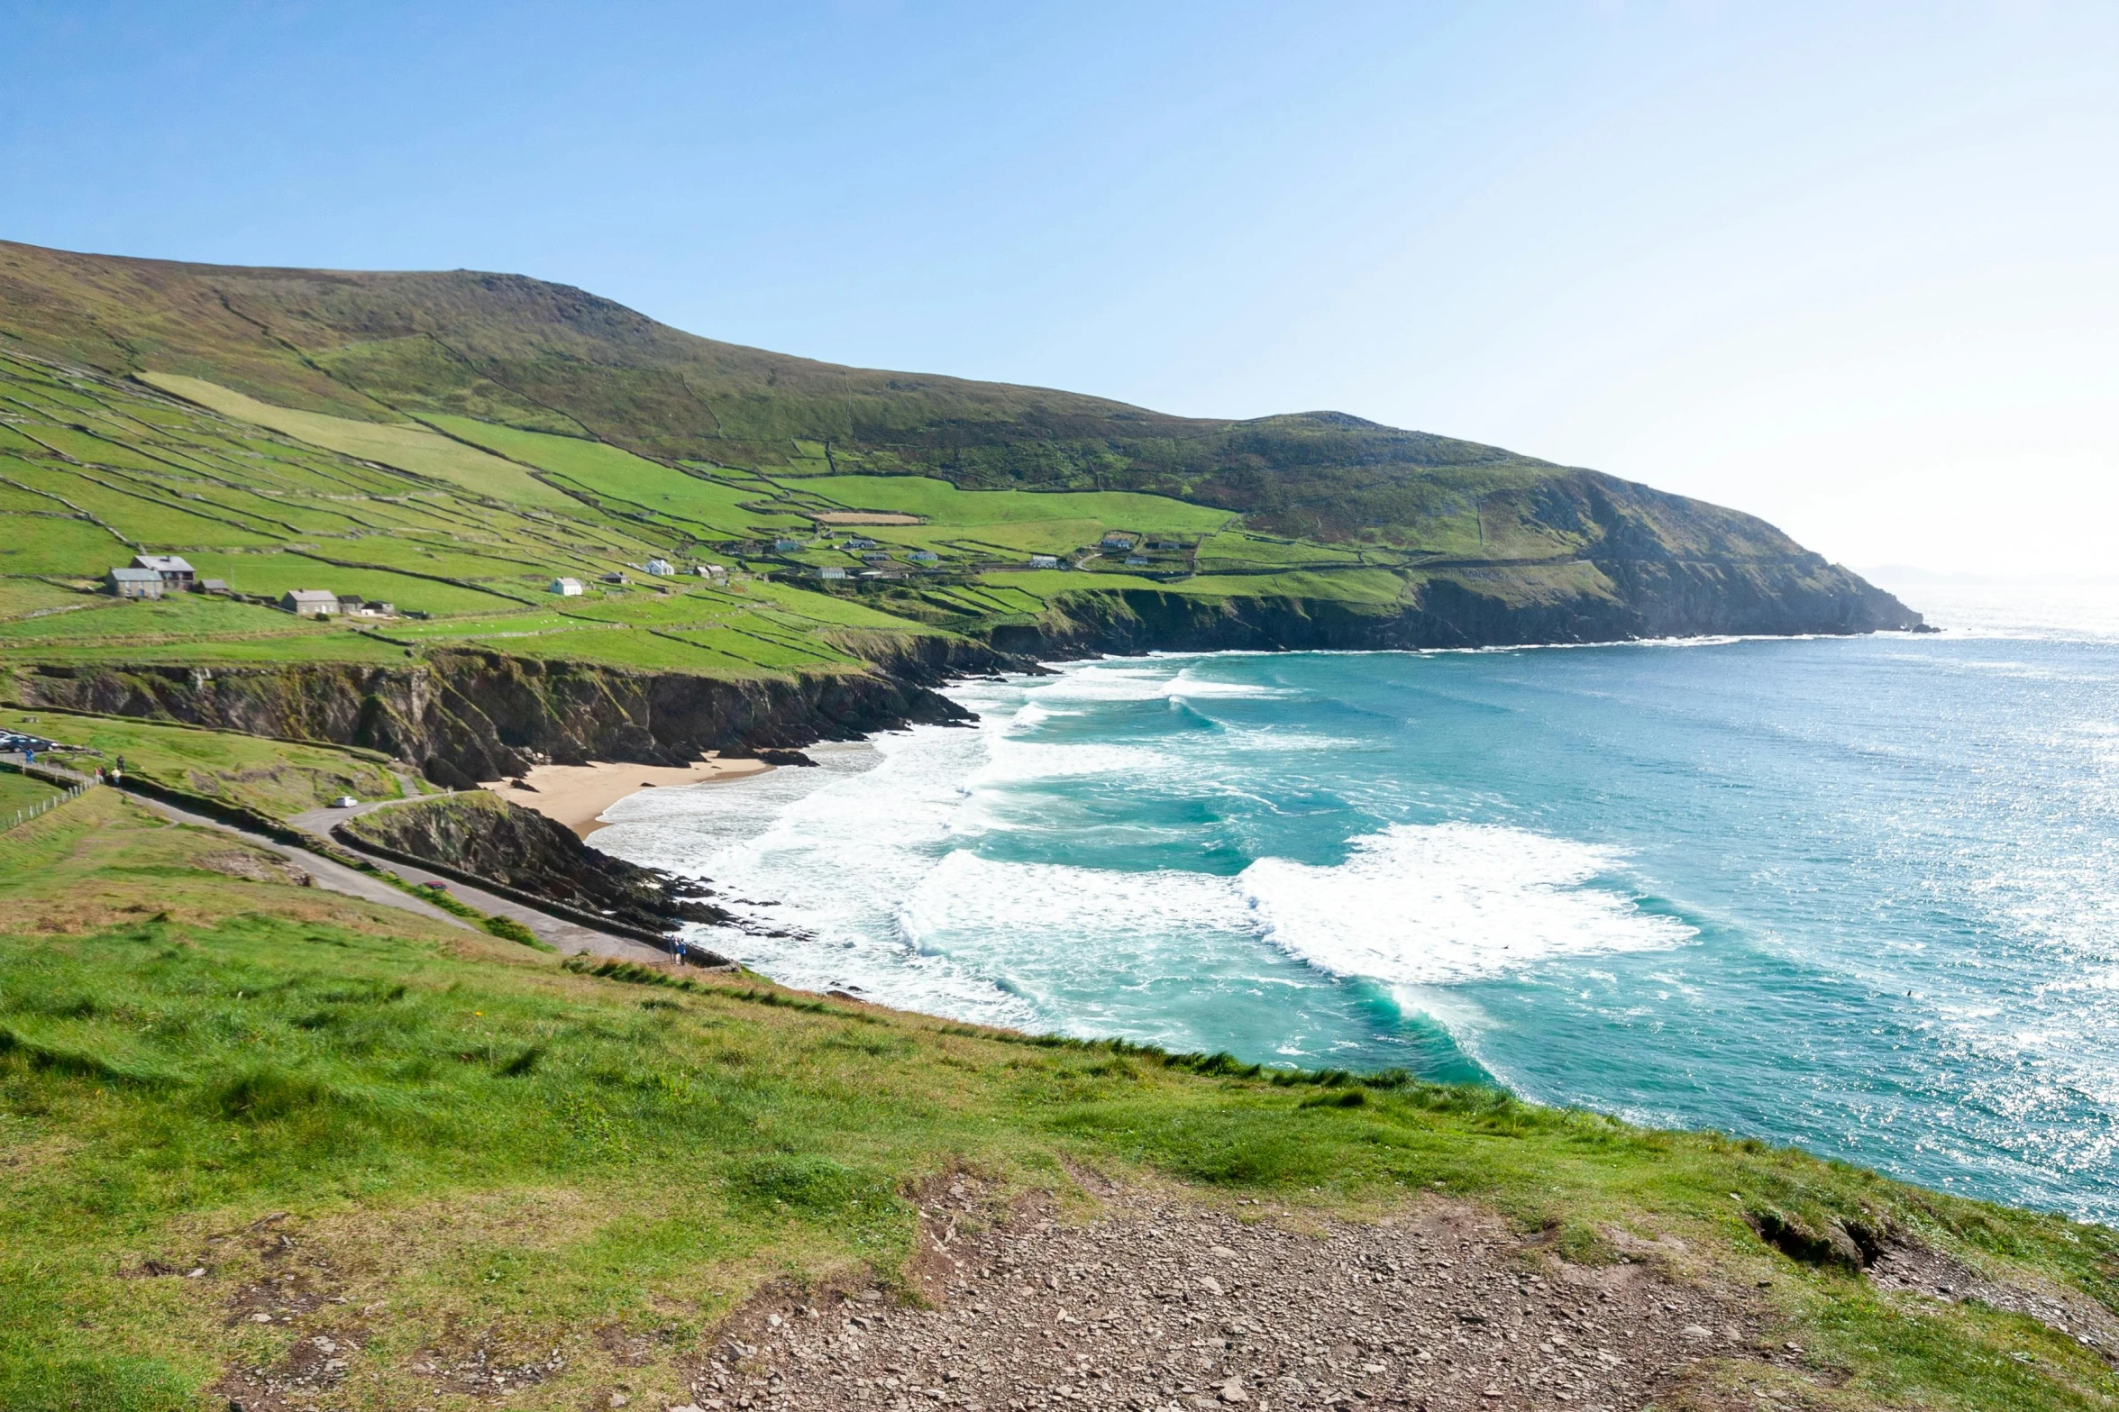
<instances>
[{"instance_id":1,"label":"entire far hillside with green fields, brown ridge and sea cliffs","mask_svg":"<svg viewBox=\"0 0 2119 1412\"><path fill-rule=\"evenodd\" d=\"M148 553L227 593L100 593ZM1346 413L843 368L526 275L0 243L28 705L466 783L939 720L949 673L1053 656L1918 627L1740 510Z\"/></svg>"}]
</instances>

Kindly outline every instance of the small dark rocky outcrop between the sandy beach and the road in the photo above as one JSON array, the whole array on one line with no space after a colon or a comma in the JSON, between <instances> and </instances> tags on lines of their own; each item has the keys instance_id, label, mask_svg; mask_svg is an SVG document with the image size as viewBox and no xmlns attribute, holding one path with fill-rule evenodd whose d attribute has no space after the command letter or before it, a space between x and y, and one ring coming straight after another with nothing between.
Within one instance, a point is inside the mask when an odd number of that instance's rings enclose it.
<instances>
[{"instance_id":1,"label":"small dark rocky outcrop between the sandy beach and the road","mask_svg":"<svg viewBox=\"0 0 2119 1412\"><path fill-rule=\"evenodd\" d=\"M504 883L515 891L667 931L678 921L727 921L695 883L600 853L530 809L483 790L398 804L343 826L354 838Z\"/></svg>"}]
</instances>

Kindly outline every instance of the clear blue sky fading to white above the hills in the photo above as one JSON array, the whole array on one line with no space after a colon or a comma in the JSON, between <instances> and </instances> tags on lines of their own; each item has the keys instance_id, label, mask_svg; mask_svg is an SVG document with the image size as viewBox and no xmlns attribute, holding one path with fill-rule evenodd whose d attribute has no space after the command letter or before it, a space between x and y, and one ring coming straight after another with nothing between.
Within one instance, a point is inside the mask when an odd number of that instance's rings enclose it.
<instances>
[{"instance_id":1,"label":"clear blue sky fading to white above the hills","mask_svg":"<svg viewBox=\"0 0 2119 1412\"><path fill-rule=\"evenodd\" d=\"M1341 409L2119 572L2119 6L21 4L0 237Z\"/></svg>"}]
</instances>

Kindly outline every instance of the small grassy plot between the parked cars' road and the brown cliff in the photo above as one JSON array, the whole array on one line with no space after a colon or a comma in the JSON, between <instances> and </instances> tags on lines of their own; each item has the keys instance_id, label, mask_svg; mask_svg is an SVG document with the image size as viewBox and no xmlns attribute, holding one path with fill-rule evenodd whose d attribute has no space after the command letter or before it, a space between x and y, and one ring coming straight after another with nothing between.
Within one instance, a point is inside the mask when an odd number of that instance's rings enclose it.
<instances>
[{"instance_id":1,"label":"small grassy plot between the parked cars' road and the brown cliff","mask_svg":"<svg viewBox=\"0 0 2119 1412\"><path fill-rule=\"evenodd\" d=\"M123 758L129 775L146 775L178 790L210 794L280 817L328 804L339 794L371 800L403 796L396 775L373 752L263 741L121 716L11 707L0 707L0 730L40 735L95 752L68 760L83 773L97 764L114 766Z\"/></svg>"}]
</instances>

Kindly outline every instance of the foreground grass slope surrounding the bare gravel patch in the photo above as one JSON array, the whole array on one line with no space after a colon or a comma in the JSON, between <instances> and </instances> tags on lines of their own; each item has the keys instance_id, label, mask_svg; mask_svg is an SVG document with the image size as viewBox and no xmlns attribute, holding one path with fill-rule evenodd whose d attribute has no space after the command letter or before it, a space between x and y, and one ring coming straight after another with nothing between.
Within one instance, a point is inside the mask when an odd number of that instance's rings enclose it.
<instances>
[{"instance_id":1,"label":"foreground grass slope surrounding the bare gravel patch","mask_svg":"<svg viewBox=\"0 0 2119 1412\"><path fill-rule=\"evenodd\" d=\"M242 881L229 847L108 792L0 843L0 1406L222 1406L227 1368L333 1334L350 1370L322 1406L468 1406L413 1374L420 1355L557 1348L566 1368L509 1406L581 1408L623 1376L659 1408L761 1281L898 1279L920 1181L1068 1194L1070 1166L1354 1215L1445 1192L1585 1262L1663 1241L1680 1274L1769 1281L1774 1338L1812 1351L1831 1406L2119 1391L2028 1319L1880 1296L1765 1247L1744 1213L1890 1228L2111 1306L2104 1228L1494 1090L1276 1082L570 970ZM252 1319L269 1308L299 1313ZM621 1372L612 1348L646 1363Z\"/></svg>"}]
</instances>

